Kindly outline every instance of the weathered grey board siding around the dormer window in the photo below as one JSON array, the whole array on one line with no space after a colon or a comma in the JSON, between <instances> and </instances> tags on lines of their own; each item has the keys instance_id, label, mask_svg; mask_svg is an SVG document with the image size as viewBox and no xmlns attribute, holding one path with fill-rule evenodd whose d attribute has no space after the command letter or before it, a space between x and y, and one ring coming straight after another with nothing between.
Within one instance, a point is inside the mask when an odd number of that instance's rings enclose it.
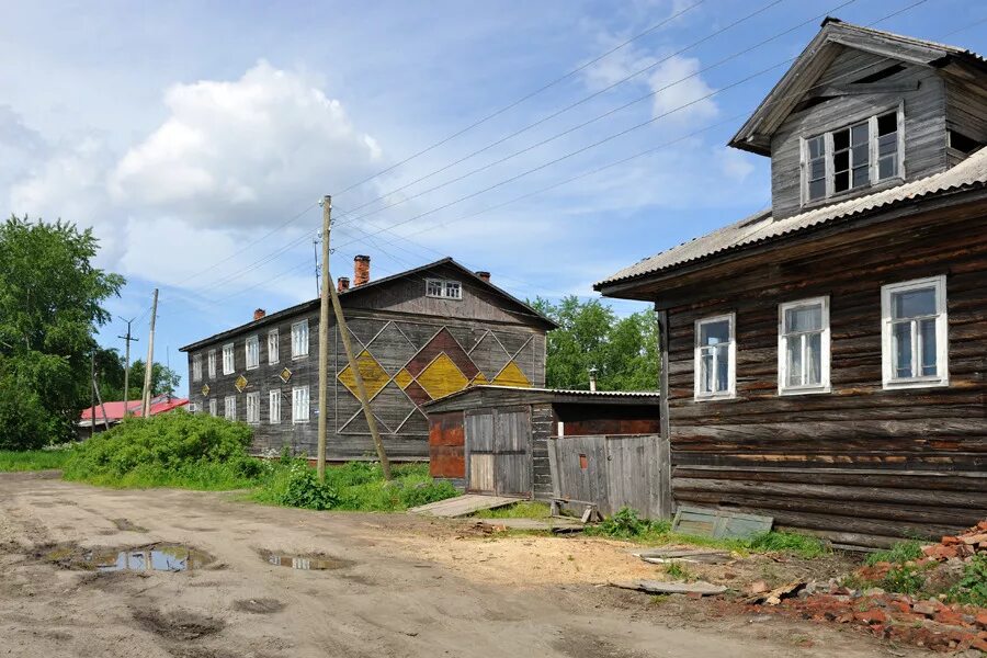
<instances>
[{"instance_id":1,"label":"weathered grey board siding around the dormer window","mask_svg":"<svg viewBox=\"0 0 987 658\"><path fill-rule=\"evenodd\" d=\"M816 89L830 82L848 84L893 64L894 60L877 55L844 49L822 75ZM771 139L771 198L775 218L789 217L802 211L799 138L838 129L880 112L896 109L901 100L905 103L906 179L915 180L946 168L946 94L940 73L928 67L909 66L875 83L875 88L880 89L878 84L917 84L918 88L906 92L854 93L832 98L793 113L782 123ZM864 188L853 194L866 194L871 190L873 188Z\"/></svg>"}]
</instances>

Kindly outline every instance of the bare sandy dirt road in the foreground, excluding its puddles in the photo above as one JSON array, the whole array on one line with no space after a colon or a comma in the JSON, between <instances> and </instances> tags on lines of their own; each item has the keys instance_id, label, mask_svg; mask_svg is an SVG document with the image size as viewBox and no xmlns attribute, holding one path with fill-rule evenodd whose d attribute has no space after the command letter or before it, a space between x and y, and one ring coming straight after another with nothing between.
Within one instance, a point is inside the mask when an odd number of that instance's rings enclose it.
<instances>
[{"instance_id":1,"label":"bare sandy dirt road in the foreground, excluding its puddles","mask_svg":"<svg viewBox=\"0 0 987 658\"><path fill-rule=\"evenodd\" d=\"M0 656L920 656L855 633L593 583L654 577L619 543L491 541L468 522L260 507L0 474ZM124 530L121 530L124 527ZM98 574L55 547L183 543L202 569ZM326 571L264 551L347 560ZM571 559L570 559L571 558Z\"/></svg>"}]
</instances>

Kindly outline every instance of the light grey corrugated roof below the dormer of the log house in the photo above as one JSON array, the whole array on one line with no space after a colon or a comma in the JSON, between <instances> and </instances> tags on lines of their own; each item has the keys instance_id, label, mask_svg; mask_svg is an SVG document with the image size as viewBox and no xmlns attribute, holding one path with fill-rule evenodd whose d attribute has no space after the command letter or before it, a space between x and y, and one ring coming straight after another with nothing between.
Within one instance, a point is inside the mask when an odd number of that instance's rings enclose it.
<instances>
[{"instance_id":1,"label":"light grey corrugated roof below the dormer of the log house","mask_svg":"<svg viewBox=\"0 0 987 658\"><path fill-rule=\"evenodd\" d=\"M897 203L914 201L934 194L960 190L968 186L982 186L987 183L987 148L982 148L963 162L942 173L932 174L908 183L896 185L881 192L858 196L832 205L806 211L784 219L774 219L770 211L757 213L739 222L725 226L700 238L672 247L650 258L646 258L629 268L625 268L597 283L593 287L601 290L608 285L621 283L629 279L654 274L712 256L755 245L770 238L794 234L816 227L828 222L842 219L873 211L893 206Z\"/></svg>"}]
</instances>

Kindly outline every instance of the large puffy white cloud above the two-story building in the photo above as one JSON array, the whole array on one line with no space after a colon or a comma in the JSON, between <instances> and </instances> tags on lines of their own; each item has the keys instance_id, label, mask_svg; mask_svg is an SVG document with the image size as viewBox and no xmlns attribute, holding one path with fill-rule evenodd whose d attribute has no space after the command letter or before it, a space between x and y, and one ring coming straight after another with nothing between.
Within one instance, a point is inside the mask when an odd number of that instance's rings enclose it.
<instances>
[{"instance_id":1,"label":"large puffy white cloud above the two-story building","mask_svg":"<svg viewBox=\"0 0 987 658\"><path fill-rule=\"evenodd\" d=\"M260 61L236 81L177 84L168 118L109 177L113 201L196 225L246 228L286 203L364 178L381 148L304 75Z\"/></svg>"}]
</instances>

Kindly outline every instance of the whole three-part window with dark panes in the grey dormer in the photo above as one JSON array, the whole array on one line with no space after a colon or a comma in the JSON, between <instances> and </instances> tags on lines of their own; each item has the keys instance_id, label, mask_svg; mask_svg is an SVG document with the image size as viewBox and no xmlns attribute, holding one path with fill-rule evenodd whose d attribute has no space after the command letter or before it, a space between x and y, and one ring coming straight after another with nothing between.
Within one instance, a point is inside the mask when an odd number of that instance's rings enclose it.
<instances>
[{"instance_id":1,"label":"whole three-part window with dark panes in the grey dormer","mask_svg":"<svg viewBox=\"0 0 987 658\"><path fill-rule=\"evenodd\" d=\"M901 107L803 140L803 204L901 177Z\"/></svg>"}]
</instances>

